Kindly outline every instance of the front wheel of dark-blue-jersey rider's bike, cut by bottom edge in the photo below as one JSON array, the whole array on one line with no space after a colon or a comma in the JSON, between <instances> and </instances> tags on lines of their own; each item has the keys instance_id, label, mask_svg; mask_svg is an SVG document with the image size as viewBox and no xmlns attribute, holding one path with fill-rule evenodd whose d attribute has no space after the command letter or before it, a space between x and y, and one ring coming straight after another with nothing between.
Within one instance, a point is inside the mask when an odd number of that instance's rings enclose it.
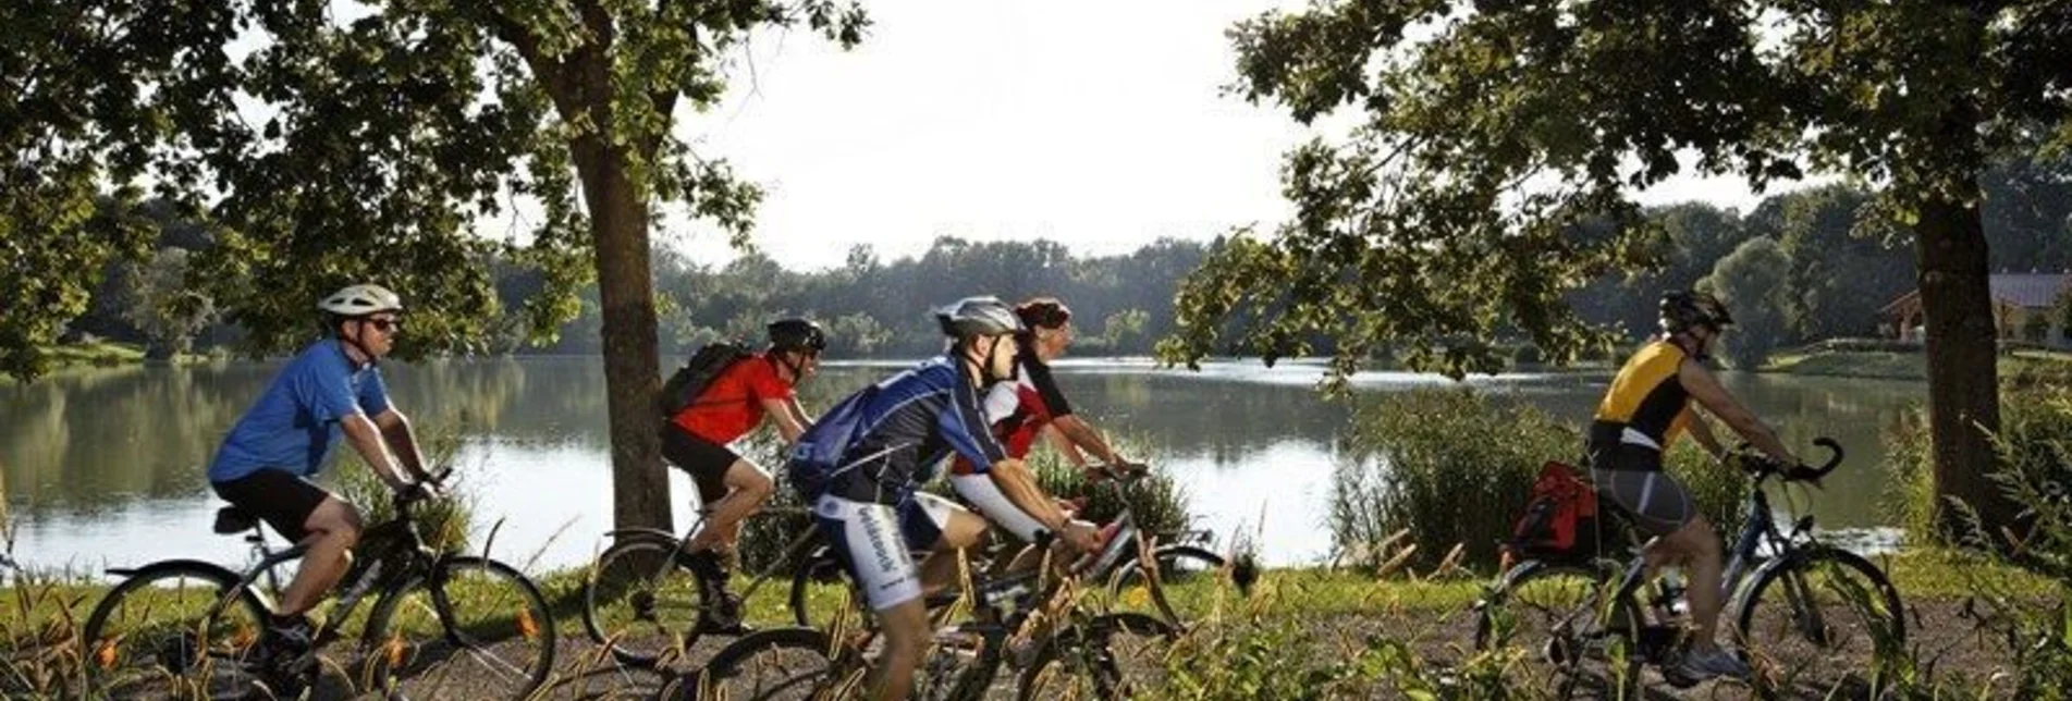
<instances>
[{"instance_id":1,"label":"front wheel of dark-blue-jersey rider's bike, cut by bottom edge","mask_svg":"<svg viewBox=\"0 0 2072 701\"><path fill-rule=\"evenodd\" d=\"M1071 626L1059 630L1036 651L1030 666L1021 670L1015 682L1015 697L1021 701L1040 699L1123 699L1135 695L1150 682L1129 682L1125 676L1133 668L1158 670L1156 653L1146 655L1135 649L1135 641L1129 643L1131 649L1117 649L1119 637L1129 635L1160 639L1160 643L1171 643L1177 630L1164 620L1138 612L1102 614L1094 616L1082 626ZM1080 668L1071 668L1077 664ZM1053 670L1055 668L1055 670ZM1127 668L1127 670L1125 670ZM1057 682L1063 682L1059 686ZM1092 689L1080 689L1086 682Z\"/></svg>"}]
</instances>

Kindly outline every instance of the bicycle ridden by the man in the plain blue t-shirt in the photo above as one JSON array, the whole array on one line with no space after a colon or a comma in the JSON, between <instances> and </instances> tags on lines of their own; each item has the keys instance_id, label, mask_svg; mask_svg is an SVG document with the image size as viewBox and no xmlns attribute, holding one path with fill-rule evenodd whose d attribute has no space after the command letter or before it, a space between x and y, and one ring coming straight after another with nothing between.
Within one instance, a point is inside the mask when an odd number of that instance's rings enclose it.
<instances>
[{"instance_id":1,"label":"bicycle ridden by the man in the plain blue t-shirt","mask_svg":"<svg viewBox=\"0 0 2072 701\"><path fill-rule=\"evenodd\" d=\"M294 697L319 680L317 651L346 637L344 622L373 593L358 635L363 686L429 697L454 682L477 699L528 697L553 668L547 601L503 562L425 545L412 521L423 500L419 489L398 494L396 516L363 533L358 558L334 589L329 622L300 655L271 653L265 620L282 585L280 564L307 548L276 552L251 512L224 506L213 531L249 531L257 564L234 572L213 562L162 560L108 570L124 581L83 628L89 682L120 699Z\"/></svg>"}]
</instances>

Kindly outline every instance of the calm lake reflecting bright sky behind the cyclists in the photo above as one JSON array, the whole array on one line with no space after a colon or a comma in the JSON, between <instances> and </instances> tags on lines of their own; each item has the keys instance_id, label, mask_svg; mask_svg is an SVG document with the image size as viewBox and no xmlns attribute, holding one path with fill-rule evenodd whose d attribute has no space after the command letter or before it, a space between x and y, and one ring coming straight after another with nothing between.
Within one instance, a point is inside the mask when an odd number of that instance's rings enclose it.
<instances>
[{"instance_id":1,"label":"calm lake reflecting bright sky behind the cyclists","mask_svg":"<svg viewBox=\"0 0 2072 701\"><path fill-rule=\"evenodd\" d=\"M829 363L804 388L806 409L816 413L905 365ZM15 558L44 570L97 570L170 556L244 562L240 539L209 533L220 504L203 475L224 431L276 369L278 363L70 369L33 384L0 384L0 475L15 521ZM1200 525L1218 541L1245 533L1270 564L1328 558L1322 514L1349 409L1316 394L1320 365L1210 363L1185 371L1148 361L1065 361L1057 369L1082 415L1175 473ZM533 560L537 568L591 558L611 514L599 359L387 363L383 373L421 438L460 433L456 465L477 500L477 521L503 523L493 545L499 556ZM1830 477L1813 504L1825 527L1863 535L1859 541L1871 548L1890 543L1892 531L1877 529L1879 436L1908 402L1927 398L1925 384L1753 373L1724 380L1805 454L1815 454L1813 436L1848 446L1844 471ZM1606 382L1606 373L1473 380L1575 423L1589 417ZM1353 377L1355 394L1438 384L1448 380ZM680 471L669 473L678 523L686 525L692 489Z\"/></svg>"}]
</instances>

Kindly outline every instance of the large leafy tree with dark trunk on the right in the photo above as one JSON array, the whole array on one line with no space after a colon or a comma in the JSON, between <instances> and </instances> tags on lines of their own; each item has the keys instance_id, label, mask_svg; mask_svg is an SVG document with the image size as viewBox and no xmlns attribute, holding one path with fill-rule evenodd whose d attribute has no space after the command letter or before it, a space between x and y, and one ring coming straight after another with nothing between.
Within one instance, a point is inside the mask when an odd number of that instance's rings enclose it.
<instances>
[{"instance_id":1,"label":"large leafy tree with dark trunk on the right","mask_svg":"<svg viewBox=\"0 0 2072 701\"><path fill-rule=\"evenodd\" d=\"M2051 131L2072 143L2072 4L1320 0L1231 37L1237 93L1303 122L1351 106L1357 127L1289 153L1293 220L1187 282L1167 357L1274 357L1314 330L1339 338L1339 369L1399 338L1423 348L1415 367L1479 371L1508 319L1575 359L1604 336L1562 292L1660 236L1629 191L1687 166L1757 189L1840 172L1881 185L1873 209L1915 234L1937 494L1993 533L2014 516L1987 477L1979 174Z\"/></svg>"}]
</instances>

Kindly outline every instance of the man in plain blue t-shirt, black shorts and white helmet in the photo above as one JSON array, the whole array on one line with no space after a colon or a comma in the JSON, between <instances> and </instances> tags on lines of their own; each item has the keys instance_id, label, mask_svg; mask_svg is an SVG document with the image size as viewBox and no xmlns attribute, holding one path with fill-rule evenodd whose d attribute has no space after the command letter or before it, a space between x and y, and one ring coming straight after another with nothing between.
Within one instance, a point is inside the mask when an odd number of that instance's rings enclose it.
<instances>
[{"instance_id":1,"label":"man in plain blue t-shirt, black shorts and white helmet","mask_svg":"<svg viewBox=\"0 0 2072 701\"><path fill-rule=\"evenodd\" d=\"M218 496L282 537L309 545L269 622L271 641L290 653L309 649L315 630L305 612L338 585L361 537L361 512L309 481L340 436L390 487L431 487L410 421L390 404L375 367L396 346L402 299L375 284L354 284L325 297L317 309L332 338L303 348L274 375L209 462Z\"/></svg>"}]
</instances>

